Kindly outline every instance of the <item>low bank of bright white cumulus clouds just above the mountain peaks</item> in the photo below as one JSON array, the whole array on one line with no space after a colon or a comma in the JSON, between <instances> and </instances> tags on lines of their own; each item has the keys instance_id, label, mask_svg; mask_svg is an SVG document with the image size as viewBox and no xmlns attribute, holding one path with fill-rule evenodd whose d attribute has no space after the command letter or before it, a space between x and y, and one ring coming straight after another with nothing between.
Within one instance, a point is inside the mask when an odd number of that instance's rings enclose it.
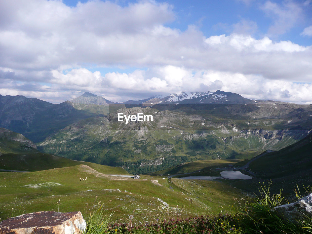
<instances>
[{"instance_id":1,"label":"low bank of bright white cumulus clouds just above the mountain peaks","mask_svg":"<svg viewBox=\"0 0 312 234\"><path fill-rule=\"evenodd\" d=\"M270 80L261 75L245 75L239 72L194 70L168 65L131 73L101 74L99 71L91 72L85 68L73 69L67 73L54 70L52 73L53 78L49 85L0 79L0 82L3 82L0 93L37 97L59 103L64 101L61 100L63 96L71 100L89 91L119 102L144 99L152 95L168 95L181 90L207 92L220 89L239 93L250 99L311 103L311 83Z\"/></svg>"}]
</instances>

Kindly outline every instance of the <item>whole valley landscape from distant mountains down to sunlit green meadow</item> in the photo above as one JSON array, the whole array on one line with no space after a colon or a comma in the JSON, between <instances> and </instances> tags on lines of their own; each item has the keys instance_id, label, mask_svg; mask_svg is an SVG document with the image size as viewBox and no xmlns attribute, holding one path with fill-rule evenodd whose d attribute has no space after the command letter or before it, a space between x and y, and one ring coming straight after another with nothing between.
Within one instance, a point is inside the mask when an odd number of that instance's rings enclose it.
<instances>
[{"instance_id":1,"label":"whole valley landscape from distant mountains down to sunlit green meadow","mask_svg":"<svg viewBox=\"0 0 312 234\"><path fill-rule=\"evenodd\" d=\"M296 186L311 186L311 105L219 90L198 95L153 97L154 105L108 104L90 93L61 104L1 96L0 218L38 210L84 215L102 201L113 220L129 222L131 214L142 224L235 213L268 181L289 201ZM195 102L203 97L215 103ZM153 121L124 124L117 112ZM252 179L224 176L231 171Z\"/></svg>"}]
</instances>

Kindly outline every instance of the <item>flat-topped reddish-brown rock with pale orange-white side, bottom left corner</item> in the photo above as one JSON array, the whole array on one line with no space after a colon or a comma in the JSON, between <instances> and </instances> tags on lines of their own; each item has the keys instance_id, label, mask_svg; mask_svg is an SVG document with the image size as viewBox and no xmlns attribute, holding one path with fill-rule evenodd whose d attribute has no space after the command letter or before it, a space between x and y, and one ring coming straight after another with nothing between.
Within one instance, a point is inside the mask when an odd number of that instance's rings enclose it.
<instances>
[{"instance_id":1,"label":"flat-topped reddish-brown rock with pale orange-white side, bottom left corner","mask_svg":"<svg viewBox=\"0 0 312 234\"><path fill-rule=\"evenodd\" d=\"M41 211L0 222L0 234L79 234L86 222L79 212Z\"/></svg>"}]
</instances>

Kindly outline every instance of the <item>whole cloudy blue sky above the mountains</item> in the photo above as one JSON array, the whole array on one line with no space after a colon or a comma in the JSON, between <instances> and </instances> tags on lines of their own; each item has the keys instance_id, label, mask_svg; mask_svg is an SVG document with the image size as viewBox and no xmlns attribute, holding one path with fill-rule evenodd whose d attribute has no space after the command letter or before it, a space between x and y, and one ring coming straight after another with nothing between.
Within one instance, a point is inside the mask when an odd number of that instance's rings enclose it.
<instances>
[{"instance_id":1,"label":"whole cloudy blue sky above the mountains","mask_svg":"<svg viewBox=\"0 0 312 234\"><path fill-rule=\"evenodd\" d=\"M0 94L312 103L312 0L0 1Z\"/></svg>"}]
</instances>

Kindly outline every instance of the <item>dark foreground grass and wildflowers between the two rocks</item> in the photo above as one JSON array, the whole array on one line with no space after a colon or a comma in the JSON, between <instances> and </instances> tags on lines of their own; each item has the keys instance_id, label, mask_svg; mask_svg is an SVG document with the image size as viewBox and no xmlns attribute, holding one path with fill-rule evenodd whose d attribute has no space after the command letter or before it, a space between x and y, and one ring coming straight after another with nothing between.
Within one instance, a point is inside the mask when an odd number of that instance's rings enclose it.
<instances>
[{"instance_id":1,"label":"dark foreground grass and wildflowers between the two rocks","mask_svg":"<svg viewBox=\"0 0 312 234\"><path fill-rule=\"evenodd\" d=\"M188 233L209 233L209 234L305 234L312 232L312 218L302 214L301 218L290 222L284 216L274 210L275 206L282 204L283 198L280 194L270 196L270 186L262 185L259 189L260 197L256 197L241 204L236 201L238 208L232 214L218 214L216 216L184 216L177 209L177 212L164 212L159 210L157 216L144 224L137 225L128 219L127 223L111 222L96 233L125 233L125 234L188 234ZM102 207L101 207L102 208ZM90 217L96 216L99 223L107 223L108 216L103 221L99 210L96 210ZM134 216L135 217L135 216ZM133 217L131 217L133 218ZM92 225L94 226L94 225ZM94 230L94 229L92 229Z\"/></svg>"}]
</instances>

